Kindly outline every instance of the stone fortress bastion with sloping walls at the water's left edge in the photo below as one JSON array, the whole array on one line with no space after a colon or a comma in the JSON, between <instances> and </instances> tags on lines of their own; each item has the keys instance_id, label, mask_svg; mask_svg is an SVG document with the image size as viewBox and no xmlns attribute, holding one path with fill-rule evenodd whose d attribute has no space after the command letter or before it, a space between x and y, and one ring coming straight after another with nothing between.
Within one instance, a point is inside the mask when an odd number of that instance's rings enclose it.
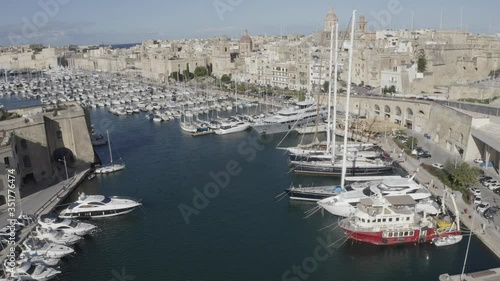
<instances>
[{"instance_id":1,"label":"stone fortress bastion with sloping walls at the water's left edge","mask_svg":"<svg viewBox=\"0 0 500 281\"><path fill-rule=\"evenodd\" d=\"M80 106L68 104L51 112L30 107L13 112L21 117L0 122L0 168L15 169L21 186L53 183L57 176L64 179L64 161L72 170L86 169L96 162L89 116ZM6 175L0 176L0 196L5 196Z\"/></svg>"}]
</instances>

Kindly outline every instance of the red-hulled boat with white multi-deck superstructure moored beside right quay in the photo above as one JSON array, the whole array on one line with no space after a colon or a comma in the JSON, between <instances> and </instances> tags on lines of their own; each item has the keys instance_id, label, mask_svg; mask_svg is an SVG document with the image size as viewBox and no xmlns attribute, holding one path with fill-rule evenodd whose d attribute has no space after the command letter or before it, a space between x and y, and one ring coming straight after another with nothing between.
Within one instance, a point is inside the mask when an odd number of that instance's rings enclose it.
<instances>
[{"instance_id":1,"label":"red-hulled boat with white multi-deck superstructure moored beside right quay","mask_svg":"<svg viewBox=\"0 0 500 281\"><path fill-rule=\"evenodd\" d=\"M459 214L455 199L450 197ZM348 238L375 245L426 243L461 235L459 216L453 220L450 216L419 214L416 204L409 195L363 198L355 213L339 221L339 226Z\"/></svg>"}]
</instances>

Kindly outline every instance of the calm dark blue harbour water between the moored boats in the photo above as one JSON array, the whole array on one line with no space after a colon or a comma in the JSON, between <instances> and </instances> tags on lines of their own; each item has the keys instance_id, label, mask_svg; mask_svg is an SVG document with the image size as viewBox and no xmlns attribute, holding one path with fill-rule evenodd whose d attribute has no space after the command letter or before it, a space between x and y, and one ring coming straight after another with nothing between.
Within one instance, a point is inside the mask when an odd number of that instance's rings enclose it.
<instances>
[{"instance_id":1,"label":"calm dark blue harbour water between the moored boats","mask_svg":"<svg viewBox=\"0 0 500 281\"><path fill-rule=\"evenodd\" d=\"M437 280L462 269L467 239L439 249L343 243L339 229L320 230L335 225L335 217L318 212L304 219L315 204L276 202L291 182L336 182L288 174L278 139L252 150L247 132L193 138L177 121L155 124L142 114L116 117L105 109L91 110L91 117L98 129L110 130L114 157L127 168L78 190L140 198L145 211L96 221L100 231L77 245L60 280ZM107 147L97 152L107 162ZM228 163L237 163L239 174L186 224L179 204L192 207L193 189L203 191L214 182L210 173L226 171ZM339 239L330 253L321 246ZM467 271L497 266L473 238Z\"/></svg>"}]
</instances>

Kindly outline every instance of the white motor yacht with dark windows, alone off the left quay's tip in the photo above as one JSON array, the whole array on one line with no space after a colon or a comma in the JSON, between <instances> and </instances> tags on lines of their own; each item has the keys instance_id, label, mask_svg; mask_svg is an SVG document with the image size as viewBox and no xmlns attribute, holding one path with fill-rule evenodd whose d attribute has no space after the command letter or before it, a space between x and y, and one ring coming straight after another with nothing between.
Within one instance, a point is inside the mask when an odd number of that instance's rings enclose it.
<instances>
[{"instance_id":1,"label":"white motor yacht with dark windows, alone off the left quay's tip","mask_svg":"<svg viewBox=\"0 0 500 281\"><path fill-rule=\"evenodd\" d=\"M59 216L61 218L103 218L124 215L142 204L128 198L80 194Z\"/></svg>"}]
</instances>

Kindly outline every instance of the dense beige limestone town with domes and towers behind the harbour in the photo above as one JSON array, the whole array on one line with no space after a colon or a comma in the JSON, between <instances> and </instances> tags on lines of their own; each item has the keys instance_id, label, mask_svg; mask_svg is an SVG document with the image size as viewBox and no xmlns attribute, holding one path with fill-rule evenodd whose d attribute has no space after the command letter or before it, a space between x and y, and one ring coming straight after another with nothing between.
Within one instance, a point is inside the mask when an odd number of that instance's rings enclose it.
<instances>
[{"instance_id":1,"label":"dense beige limestone town with domes and towers behind the harbour","mask_svg":"<svg viewBox=\"0 0 500 281\"><path fill-rule=\"evenodd\" d=\"M49 69L140 75L160 83L181 80L203 67L213 77L292 91L318 92L330 79L333 9L313 34L241 38L147 40L125 49L110 46L26 45L0 48L0 68ZM443 99L491 99L500 95L500 37L466 30L369 30L360 16L354 38L352 81L376 93L439 95ZM346 80L349 32L341 30L339 79ZM188 74L189 75L189 74ZM384 89L386 89L384 91Z\"/></svg>"}]
</instances>

